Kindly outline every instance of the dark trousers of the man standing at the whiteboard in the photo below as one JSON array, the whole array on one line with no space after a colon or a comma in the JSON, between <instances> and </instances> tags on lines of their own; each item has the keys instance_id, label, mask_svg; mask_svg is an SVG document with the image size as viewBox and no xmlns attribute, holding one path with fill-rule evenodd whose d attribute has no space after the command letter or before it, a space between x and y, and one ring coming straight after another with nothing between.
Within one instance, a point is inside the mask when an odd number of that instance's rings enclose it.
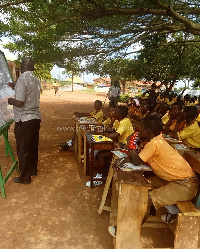
<instances>
[{"instance_id":1,"label":"dark trousers of the man standing at the whiteboard","mask_svg":"<svg viewBox=\"0 0 200 249\"><path fill-rule=\"evenodd\" d=\"M31 181L31 175L37 175L40 122L40 119L32 119L15 123L14 133L22 181Z\"/></svg>"}]
</instances>

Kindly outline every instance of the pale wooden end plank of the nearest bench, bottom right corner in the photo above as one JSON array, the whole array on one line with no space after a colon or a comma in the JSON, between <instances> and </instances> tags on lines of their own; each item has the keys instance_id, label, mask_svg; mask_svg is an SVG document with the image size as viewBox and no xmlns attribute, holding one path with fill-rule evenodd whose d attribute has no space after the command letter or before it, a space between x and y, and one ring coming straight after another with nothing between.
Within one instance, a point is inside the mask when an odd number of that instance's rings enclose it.
<instances>
[{"instance_id":1,"label":"pale wooden end plank of the nearest bench, bottom right corner","mask_svg":"<svg viewBox=\"0 0 200 249\"><path fill-rule=\"evenodd\" d=\"M174 249L197 249L200 217L178 214Z\"/></svg>"}]
</instances>

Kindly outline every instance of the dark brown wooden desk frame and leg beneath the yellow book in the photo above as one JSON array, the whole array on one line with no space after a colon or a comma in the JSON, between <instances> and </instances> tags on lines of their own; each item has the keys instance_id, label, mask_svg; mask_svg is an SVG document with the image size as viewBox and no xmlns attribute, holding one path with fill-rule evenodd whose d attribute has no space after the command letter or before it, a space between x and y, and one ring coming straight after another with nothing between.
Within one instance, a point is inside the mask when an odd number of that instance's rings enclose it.
<instances>
[{"instance_id":1,"label":"dark brown wooden desk frame and leg beneath the yellow book","mask_svg":"<svg viewBox=\"0 0 200 249\"><path fill-rule=\"evenodd\" d=\"M93 177L94 174L94 151L95 150L113 150L114 141L95 142L92 139L92 132L85 133L84 144L84 163L86 165L86 175L90 172L90 186L93 188L93 180L99 180ZM91 152L89 153L89 149ZM90 159L90 160L89 160Z\"/></svg>"}]
</instances>

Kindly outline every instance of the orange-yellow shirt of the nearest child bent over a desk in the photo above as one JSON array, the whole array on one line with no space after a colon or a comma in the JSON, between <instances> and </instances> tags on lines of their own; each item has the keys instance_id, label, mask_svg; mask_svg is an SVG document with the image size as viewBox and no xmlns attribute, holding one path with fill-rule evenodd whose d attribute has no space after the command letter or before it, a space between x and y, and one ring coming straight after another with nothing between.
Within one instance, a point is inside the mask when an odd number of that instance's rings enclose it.
<instances>
[{"instance_id":1,"label":"orange-yellow shirt of the nearest child bent over a desk","mask_svg":"<svg viewBox=\"0 0 200 249\"><path fill-rule=\"evenodd\" d=\"M139 157L148 163L153 172L167 181L181 180L194 176L189 163L158 135L148 142Z\"/></svg>"}]
</instances>

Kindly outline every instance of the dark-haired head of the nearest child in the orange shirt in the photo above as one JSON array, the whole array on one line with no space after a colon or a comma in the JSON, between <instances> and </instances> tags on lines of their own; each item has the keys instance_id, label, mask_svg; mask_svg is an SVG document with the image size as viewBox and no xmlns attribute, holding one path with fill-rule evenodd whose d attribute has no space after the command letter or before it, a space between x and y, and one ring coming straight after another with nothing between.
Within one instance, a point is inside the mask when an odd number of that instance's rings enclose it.
<instances>
[{"instance_id":1,"label":"dark-haired head of the nearest child in the orange shirt","mask_svg":"<svg viewBox=\"0 0 200 249\"><path fill-rule=\"evenodd\" d=\"M163 130L162 120L158 115L150 115L144 118L140 131L139 138L141 141L147 141L150 137L160 135Z\"/></svg>"}]
</instances>

